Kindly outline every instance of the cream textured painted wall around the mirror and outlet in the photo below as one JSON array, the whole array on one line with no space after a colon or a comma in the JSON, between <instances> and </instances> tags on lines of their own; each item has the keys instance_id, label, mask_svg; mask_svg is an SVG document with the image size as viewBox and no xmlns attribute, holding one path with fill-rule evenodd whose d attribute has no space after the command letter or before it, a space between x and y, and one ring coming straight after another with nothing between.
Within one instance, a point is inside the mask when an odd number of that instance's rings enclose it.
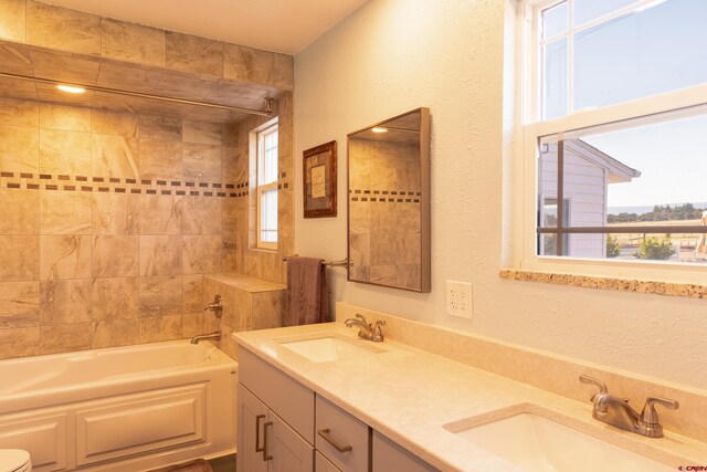
<instances>
[{"instance_id":1,"label":"cream textured painted wall around the mirror and outlet","mask_svg":"<svg viewBox=\"0 0 707 472\"><path fill-rule=\"evenodd\" d=\"M295 56L297 252L346 255L344 206L337 218L303 218L302 151L339 143L345 202L347 133L429 106L432 292L349 283L334 269L333 298L707 388L706 301L498 279L511 240L502 227L515 222L504 201L517 197L508 170L518 156L504 160L513 149L504 97L514 95L504 90L506 15L497 0L371 0ZM447 280L474 284L472 321L445 315Z\"/></svg>"}]
</instances>

